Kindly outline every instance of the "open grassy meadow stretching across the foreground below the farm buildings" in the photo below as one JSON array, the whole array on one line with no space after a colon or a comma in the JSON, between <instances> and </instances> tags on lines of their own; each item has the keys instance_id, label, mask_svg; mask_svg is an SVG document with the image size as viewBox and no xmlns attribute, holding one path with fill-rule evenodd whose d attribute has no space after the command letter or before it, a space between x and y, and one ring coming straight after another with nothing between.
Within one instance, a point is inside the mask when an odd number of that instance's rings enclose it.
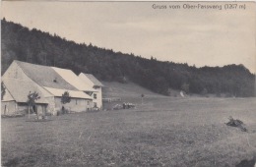
<instances>
[{"instance_id":1,"label":"open grassy meadow stretching across the foreground below the farm buildings","mask_svg":"<svg viewBox=\"0 0 256 167\"><path fill-rule=\"evenodd\" d=\"M6 118L2 166L235 166L256 157L255 98L147 98L134 110ZM248 132L227 127L240 119Z\"/></svg>"}]
</instances>

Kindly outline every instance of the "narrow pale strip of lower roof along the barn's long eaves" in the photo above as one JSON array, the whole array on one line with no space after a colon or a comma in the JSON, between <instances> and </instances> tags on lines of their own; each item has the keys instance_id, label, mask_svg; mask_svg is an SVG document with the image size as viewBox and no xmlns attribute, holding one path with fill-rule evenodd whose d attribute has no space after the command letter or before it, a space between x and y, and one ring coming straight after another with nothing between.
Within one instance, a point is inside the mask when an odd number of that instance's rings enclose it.
<instances>
[{"instance_id":1,"label":"narrow pale strip of lower roof along the barn's long eaves","mask_svg":"<svg viewBox=\"0 0 256 167\"><path fill-rule=\"evenodd\" d=\"M54 96L61 97L62 94L65 91L69 92L69 95L73 98L85 98L85 99L93 99L90 95L83 91L78 90L68 90L68 89L58 89L58 88L51 88L51 87L45 87L46 90L48 90L50 93L52 93Z\"/></svg>"}]
</instances>

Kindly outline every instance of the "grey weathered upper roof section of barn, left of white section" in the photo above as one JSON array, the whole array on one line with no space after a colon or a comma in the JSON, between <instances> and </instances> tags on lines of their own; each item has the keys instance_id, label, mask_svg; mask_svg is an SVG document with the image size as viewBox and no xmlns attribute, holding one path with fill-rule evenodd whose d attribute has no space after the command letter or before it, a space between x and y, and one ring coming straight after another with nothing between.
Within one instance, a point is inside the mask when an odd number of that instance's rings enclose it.
<instances>
[{"instance_id":1,"label":"grey weathered upper roof section of barn, left of white section","mask_svg":"<svg viewBox=\"0 0 256 167\"><path fill-rule=\"evenodd\" d=\"M34 65L15 60L24 73L40 86L60 89L78 90L75 86L67 83L58 73L49 66Z\"/></svg>"}]
</instances>

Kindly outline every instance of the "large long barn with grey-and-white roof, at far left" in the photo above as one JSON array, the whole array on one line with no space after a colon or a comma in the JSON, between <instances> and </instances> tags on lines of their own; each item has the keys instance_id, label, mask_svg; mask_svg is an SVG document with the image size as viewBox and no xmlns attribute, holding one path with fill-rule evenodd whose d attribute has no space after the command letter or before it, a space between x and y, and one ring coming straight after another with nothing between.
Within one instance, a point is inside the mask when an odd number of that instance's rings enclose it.
<instances>
[{"instance_id":1,"label":"large long barn with grey-and-white roof, at far left","mask_svg":"<svg viewBox=\"0 0 256 167\"><path fill-rule=\"evenodd\" d=\"M28 108L29 92L36 91L40 98L32 106L35 112L56 114L62 107L81 112L94 107L93 98L85 92L96 90L83 83L71 70L34 65L21 61L13 61L2 82L6 93L2 99L2 114L11 114ZM62 94L68 91L71 101L61 103Z\"/></svg>"}]
</instances>

